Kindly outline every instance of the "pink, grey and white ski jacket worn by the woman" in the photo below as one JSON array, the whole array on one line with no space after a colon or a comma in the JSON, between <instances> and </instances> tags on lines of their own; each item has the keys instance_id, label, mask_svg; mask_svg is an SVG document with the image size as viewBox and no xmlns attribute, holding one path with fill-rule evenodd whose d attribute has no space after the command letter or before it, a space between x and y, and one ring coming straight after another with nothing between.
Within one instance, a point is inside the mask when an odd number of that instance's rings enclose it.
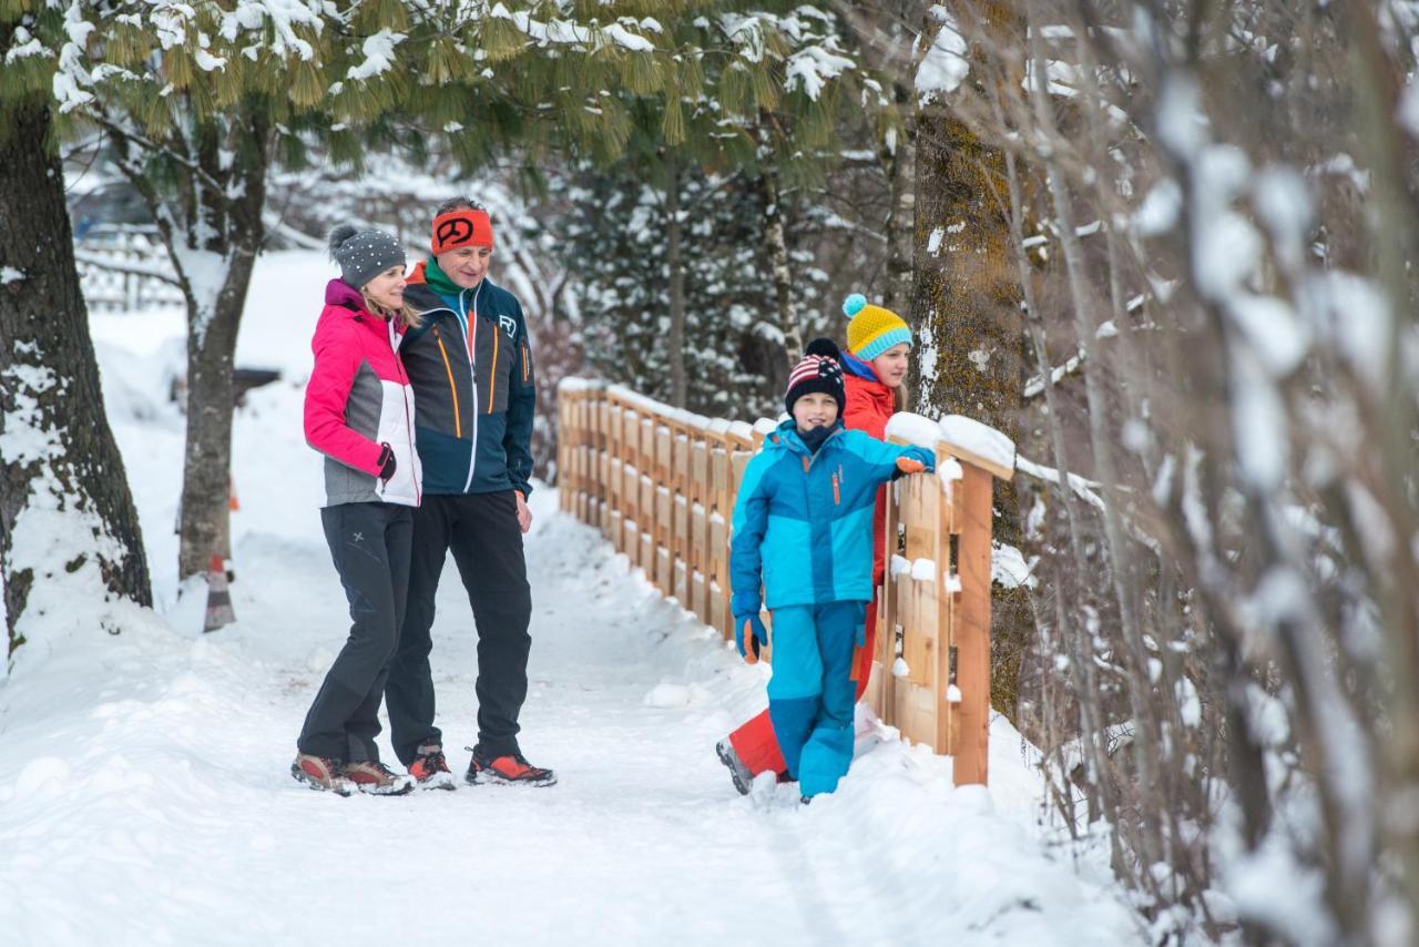
<instances>
[{"instance_id":1,"label":"pink, grey and white ski jacket worn by the woman","mask_svg":"<svg viewBox=\"0 0 1419 947\"><path fill-rule=\"evenodd\" d=\"M311 349L305 386L305 442L325 454L325 503L397 503L417 507L423 469L414 450L414 389L399 359L403 334L365 308L343 280L325 287L325 310ZM383 444L394 476L379 477Z\"/></svg>"}]
</instances>

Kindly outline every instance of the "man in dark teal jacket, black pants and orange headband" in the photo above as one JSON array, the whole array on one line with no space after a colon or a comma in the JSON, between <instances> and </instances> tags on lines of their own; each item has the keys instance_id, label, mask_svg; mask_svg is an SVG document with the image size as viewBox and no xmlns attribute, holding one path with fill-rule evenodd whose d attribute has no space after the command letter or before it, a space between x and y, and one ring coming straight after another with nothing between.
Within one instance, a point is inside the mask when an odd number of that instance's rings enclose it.
<instances>
[{"instance_id":1,"label":"man in dark teal jacket, black pants and orange headband","mask_svg":"<svg viewBox=\"0 0 1419 947\"><path fill-rule=\"evenodd\" d=\"M536 393L522 305L488 280L492 221L467 199L433 221L433 260L409 277L404 305L420 328L400 346L414 389L414 430L424 470L414 511L409 603L385 700L399 760L424 788L453 788L434 726L429 664L434 593L453 552L478 632L478 741L467 782L552 785L518 747L528 690L532 596L522 534L532 524L532 419Z\"/></svg>"}]
</instances>

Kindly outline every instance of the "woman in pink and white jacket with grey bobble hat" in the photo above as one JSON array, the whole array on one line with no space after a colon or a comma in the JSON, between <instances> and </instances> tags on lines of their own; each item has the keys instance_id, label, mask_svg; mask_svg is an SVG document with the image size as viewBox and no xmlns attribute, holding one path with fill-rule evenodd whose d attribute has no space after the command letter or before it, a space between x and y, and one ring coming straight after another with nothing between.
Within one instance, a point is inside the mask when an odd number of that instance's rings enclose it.
<instances>
[{"instance_id":1,"label":"woman in pink and white jacket with grey bobble hat","mask_svg":"<svg viewBox=\"0 0 1419 947\"><path fill-rule=\"evenodd\" d=\"M305 389L305 440L325 454L321 522L350 606L349 639L325 674L297 740L291 775L312 789L376 795L413 789L379 761L379 701L399 642L409 586L412 508L421 471L414 392L399 361L404 250L387 233L336 227L341 278L325 287L315 368Z\"/></svg>"}]
</instances>

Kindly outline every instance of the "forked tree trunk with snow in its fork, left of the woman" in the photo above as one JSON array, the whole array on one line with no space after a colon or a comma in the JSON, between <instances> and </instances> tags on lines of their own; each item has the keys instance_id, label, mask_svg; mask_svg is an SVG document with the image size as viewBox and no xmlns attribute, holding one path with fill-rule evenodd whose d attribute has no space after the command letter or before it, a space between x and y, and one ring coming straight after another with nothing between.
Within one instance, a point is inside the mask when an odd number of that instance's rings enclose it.
<instances>
[{"instance_id":1,"label":"forked tree trunk with snow in its fork, left of the woman","mask_svg":"<svg viewBox=\"0 0 1419 947\"><path fill-rule=\"evenodd\" d=\"M248 141L236 159L240 197L213 203L207 214L221 227L211 229L211 240L199 251L207 260L196 261L192 250L173 253L187 290L187 443L183 461L180 540L177 578L203 575L211 557L231 554L231 415L233 359L247 290L255 268L264 229L267 136L265 119L243 115ZM213 179L224 173L216 148L201 148L200 162ZM194 278L210 257L219 256L226 267L216 294Z\"/></svg>"}]
</instances>

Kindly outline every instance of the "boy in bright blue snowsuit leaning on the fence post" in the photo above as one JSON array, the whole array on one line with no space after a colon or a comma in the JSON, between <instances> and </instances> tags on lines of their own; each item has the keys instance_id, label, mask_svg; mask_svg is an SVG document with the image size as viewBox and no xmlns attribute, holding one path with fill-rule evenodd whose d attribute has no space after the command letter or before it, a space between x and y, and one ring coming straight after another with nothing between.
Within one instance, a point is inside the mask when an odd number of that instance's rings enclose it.
<instances>
[{"instance_id":1,"label":"boy in bright blue snowsuit leaning on the fence post","mask_svg":"<svg viewBox=\"0 0 1419 947\"><path fill-rule=\"evenodd\" d=\"M762 602L773 619L769 720L805 801L836 789L853 761L853 647L873 598L877 487L935 469L929 450L844 429L844 400L836 358L797 363L785 396L792 420L745 469L729 544L735 645L749 663L768 645Z\"/></svg>"}]
</instances>

